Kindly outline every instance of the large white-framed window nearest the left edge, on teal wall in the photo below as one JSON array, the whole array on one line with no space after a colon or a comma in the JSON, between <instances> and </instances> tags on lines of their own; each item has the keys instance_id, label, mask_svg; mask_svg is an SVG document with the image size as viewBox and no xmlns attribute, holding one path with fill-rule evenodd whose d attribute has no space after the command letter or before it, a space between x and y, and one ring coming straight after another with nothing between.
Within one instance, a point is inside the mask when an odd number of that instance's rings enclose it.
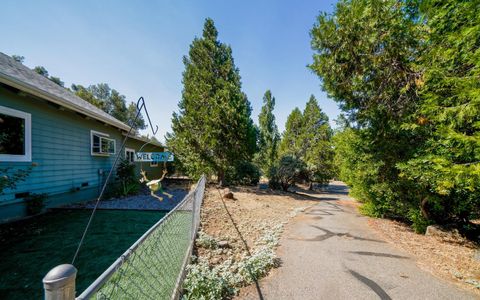
<instances>
[{"instance_id":1,"label":"large white-framed window nearest the left edge, on teal wall","mask_svg":"<svg viewBox=\"0 0 480 300\"><path fill-rule=\"evenodd\" d=\"M32 161L29 113L0 106L0 161Z\"/></svg>"}]
</instances>

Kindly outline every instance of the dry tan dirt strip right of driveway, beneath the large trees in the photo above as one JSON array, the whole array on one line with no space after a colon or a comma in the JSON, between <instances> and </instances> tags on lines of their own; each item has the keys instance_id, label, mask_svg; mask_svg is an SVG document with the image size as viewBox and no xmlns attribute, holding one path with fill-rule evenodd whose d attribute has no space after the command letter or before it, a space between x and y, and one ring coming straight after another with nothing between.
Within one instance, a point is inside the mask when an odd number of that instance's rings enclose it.
<instances>
[{"instance_id":1,"label":"dry tan dirt strip right of driveway, beneath the large trees","mask_svg":"<svg viewBox=\"0 0 480 300\"><path fill-rule=\"evenodd\" d=\"M388 242L414 256L422 269L480 296L480 260L474 258L480 250L473 243L417 234L391 220L369 219L368 224Z\"/></svg>"}]
</instances>

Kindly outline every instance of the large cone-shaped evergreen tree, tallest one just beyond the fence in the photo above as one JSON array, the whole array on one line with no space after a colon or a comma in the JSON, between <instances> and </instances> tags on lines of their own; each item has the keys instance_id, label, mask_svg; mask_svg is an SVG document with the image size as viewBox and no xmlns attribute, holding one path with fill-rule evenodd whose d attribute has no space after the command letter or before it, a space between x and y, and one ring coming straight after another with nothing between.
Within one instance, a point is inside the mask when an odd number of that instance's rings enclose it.
<instances>
[{"instance_id":1,"label":"large cone-shaped evergreen tree, tallest one just beyond the fence","mask_svg":"<svg viewBox=\"0 0 480 300\"><path fill-rule=\"evenodd\" d=\"M202 37L193 40L183 62L182 100L173 114L167 145L188 175L215 174L223 184L229 167L251 160L256 130L232 50L218 40L211 19L206 19Z\"/></svg>"}]
</instances>

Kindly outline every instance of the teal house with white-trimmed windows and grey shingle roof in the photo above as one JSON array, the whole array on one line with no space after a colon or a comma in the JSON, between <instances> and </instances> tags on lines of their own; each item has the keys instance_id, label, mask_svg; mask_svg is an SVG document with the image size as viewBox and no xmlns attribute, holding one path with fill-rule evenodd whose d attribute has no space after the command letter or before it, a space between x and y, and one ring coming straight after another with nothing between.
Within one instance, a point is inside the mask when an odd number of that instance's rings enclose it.
<instances>
[{"instance_id":1,"label":"teal house with white-trimmed windows and grey shingle roof","mask_svg":"<svg viewBox=\"0 0 480 300\"><path fill-rule=\"evenodd\" d=\"M14 190L0 195L0 222L25 216L25 197L33 193L46 193L47 207L95 199L115 154L135 163L135 151L149 141L135 136L121 149L129 129L0 52L0 172L34 165ZM152 142L143 151L163 147ZM139 172L140 163L135 164ZM142 167L149 177L161 175L158 164Z\"/></svg>"}]
</instances>

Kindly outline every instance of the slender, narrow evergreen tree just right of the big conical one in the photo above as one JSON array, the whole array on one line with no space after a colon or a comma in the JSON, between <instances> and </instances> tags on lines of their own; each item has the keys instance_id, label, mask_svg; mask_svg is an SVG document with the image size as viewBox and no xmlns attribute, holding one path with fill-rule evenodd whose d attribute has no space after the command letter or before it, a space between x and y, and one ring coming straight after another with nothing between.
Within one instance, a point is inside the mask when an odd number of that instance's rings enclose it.
<instances>
[{"instance_id":1,"label":"slender, narrow evergreen tree just right of the big conical one","mask_svg":"<svg viewBox=\"0 0 480 300\"><path fill-rule=\"evenodd\" d=\"M278 133L277 124L275 124L274 108L275 97L268 90L263 96L262 111L258 116L258 153L255 157L256 163L260 166L263 174L268 174L269 169L278 157L280 134Z\"/></svg>"}]
</instances>

